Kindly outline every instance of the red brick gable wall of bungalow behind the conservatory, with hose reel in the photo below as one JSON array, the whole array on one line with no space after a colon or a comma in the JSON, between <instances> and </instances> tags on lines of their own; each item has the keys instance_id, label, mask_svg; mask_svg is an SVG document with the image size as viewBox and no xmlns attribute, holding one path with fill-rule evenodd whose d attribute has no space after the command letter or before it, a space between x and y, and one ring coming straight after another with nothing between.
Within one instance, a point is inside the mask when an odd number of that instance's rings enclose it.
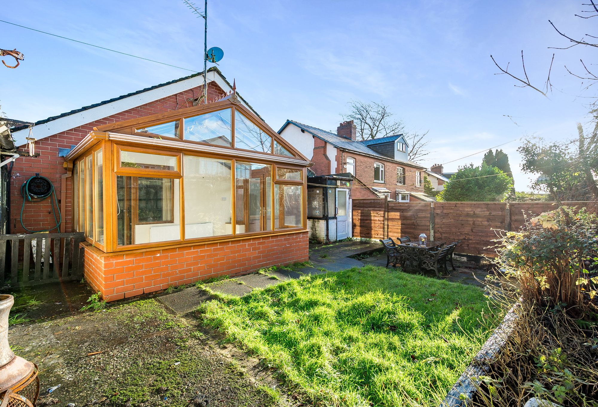
<instances>
[{"instance_id":1,"label":"red brick gable wall of bungalow behind the conservatory, with hose reel","mask_svg":"<svg viewBox=\"0 0 598 407\"><path fill-rule=\"evenodd\" d=\"M48 178L56 189L56 197L59 199L60 211L60 192L63 188L62 175L66 174L63 168L65 159L58 156L59 148L71 148L71 145L78 144L83 137L85 137L93 127L120 122L123 120L134 119L155 113L167 112L170 110L182 109L184 107L193 106L189 101L191 97L197 97L202 93L203 86L196 87L169 97L161 98L147 104L135 107L124 112L115 113L106 118L72 128L50 137L42 138L35 142L36 152L40 153L38 158L19 158L14 162L12 179L11 179L11 197L10 197L10 232L23 233L25 230L20 223L20 211L23 205L23 197L21 195L21 186L30 177L37 172ZM218 98L224 95L224 91L215 84L210 82L208 84L208 98ZM33 137L35 137L35 128L33 128ZM71 179L67 178L67 193L66 193L66 208L63 214L61 232L72 232L72 217L71 217ZM28 229L41 230L50 229L55 226L54 217L52 215L50 199L42 202L26 202L23 210L23 223ZM56 232L54 230L53 232Z\"/></svg>"}]
</instances>

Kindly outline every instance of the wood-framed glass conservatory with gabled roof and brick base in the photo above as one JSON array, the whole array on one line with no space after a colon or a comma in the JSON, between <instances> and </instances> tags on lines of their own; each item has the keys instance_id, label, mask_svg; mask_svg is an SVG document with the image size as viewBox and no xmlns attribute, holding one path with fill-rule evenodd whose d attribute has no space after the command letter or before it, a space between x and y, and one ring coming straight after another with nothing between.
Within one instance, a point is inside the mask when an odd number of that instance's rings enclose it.
<instances>
[{"instance_id":1,"label":"wood-framed glass conservatory with gabled roof and brick base","mask_svg":"<svg viewBox=\"0 0 598 407\"><path fill-rule=\"evenodd\" d=\"M309 160L236 94L96 127L67 160L86 278L108 299L307 260Z\"/></svg>"}]
</instances>

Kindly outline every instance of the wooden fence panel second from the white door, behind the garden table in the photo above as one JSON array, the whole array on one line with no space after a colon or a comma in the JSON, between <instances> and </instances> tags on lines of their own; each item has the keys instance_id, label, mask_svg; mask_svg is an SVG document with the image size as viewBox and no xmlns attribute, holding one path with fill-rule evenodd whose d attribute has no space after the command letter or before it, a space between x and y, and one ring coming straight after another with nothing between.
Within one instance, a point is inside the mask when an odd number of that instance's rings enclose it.
<instances>
[{"instance_id":1,"label":"wooden fence panel second from the white door, behind the garden table","mask_svg":"<svg viewBox=\"0 0 598 407\"><path fill-rule=\"evenodd\" d=\"M429 237L431 210L431 202L389 202L388 237L416 240L420 233Z\"/></svg>"}]
</instances>

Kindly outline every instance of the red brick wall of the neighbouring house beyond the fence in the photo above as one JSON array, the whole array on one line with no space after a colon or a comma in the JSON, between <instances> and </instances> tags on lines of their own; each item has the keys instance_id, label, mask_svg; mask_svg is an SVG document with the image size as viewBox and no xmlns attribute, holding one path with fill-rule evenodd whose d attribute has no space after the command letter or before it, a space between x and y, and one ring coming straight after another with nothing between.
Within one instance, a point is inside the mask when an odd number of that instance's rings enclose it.
<instances>
[{"instance_id":1,"label":"red brick wall of the neighbouring house beyond the fence","mask_svg":"<svg viewBox=\"0 0 598 407\"><path fill-rule=\"evenodd\" d=\"M395 162L384 161L383 159L376 159L371 158L365 155L359 155L352 152L344 152L337 149L337 173L346 172L346 169L343 168L343 165L347 161L347 157L355 158L355 177L357 177L360 181L362 181L368 187L386 187L387 189L392 192L390 194L390 199L396 199L395 190L402 189L408 192L423 192L423 175L424 170L419 168L414 168L407 165L396 164ZM385 182L384 183L374 183L374 162L379 162L380 164L384 164L385 170ZM396 184L396 168L402 166L405 168L405 185L397 185ZM422 174L422 185L416 186L415 185L415 172L421 171ZM317 174L317 172L316 172ZM371 191L368 191L365 188L353 188L352 189L352 198L372 198Z\"/></svg>"}]
</instances>

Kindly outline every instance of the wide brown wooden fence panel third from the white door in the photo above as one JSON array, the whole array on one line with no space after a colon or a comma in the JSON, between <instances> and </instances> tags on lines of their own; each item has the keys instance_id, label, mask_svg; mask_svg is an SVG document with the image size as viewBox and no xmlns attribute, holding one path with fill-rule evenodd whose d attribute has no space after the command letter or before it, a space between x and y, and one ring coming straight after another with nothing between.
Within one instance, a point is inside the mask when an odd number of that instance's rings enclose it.
<instances>
[{"instance_id":1,"label":"wide brown wooden fence panel third from the white door","mask_svg":"<svg viewBox=\"0 0 598 407\"><path fill-rule=\"evenodd\" d=\"M435 202L434 240L462 240L457 253L492 257L495 229L507 227L506 209L505 202Z\"/></svg>"}]
</instances>

